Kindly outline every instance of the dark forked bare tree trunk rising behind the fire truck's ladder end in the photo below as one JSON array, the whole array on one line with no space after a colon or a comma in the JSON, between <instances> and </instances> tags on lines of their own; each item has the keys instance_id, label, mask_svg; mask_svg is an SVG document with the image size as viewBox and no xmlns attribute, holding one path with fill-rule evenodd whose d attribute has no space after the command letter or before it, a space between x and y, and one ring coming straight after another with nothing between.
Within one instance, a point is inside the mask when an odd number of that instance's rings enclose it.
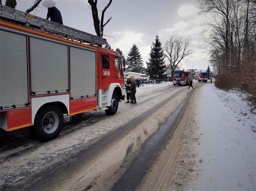
<instances>
[{"instance_id":1,"label":"dark forked bare tree trunk rising behind the fire truck's ladder end","mask_svg":"<svg viewBox=\"0 0 256 191\"><path fill-rule=\"evenodd\" d=\"M98 16L97 0L88 0L88 3L90 4L91 9L92 9L93 24L94 24L95 32L96 32L97 36L102 37L104 27L112 19L112 17L109 17L109 19L104 23L104 14L105 14L107 8L109 8L110 4L112 3L112 0L109 0L108 4L102 10L101 20L99 19L99 16Z\"/></svg>"}]
</instances>

